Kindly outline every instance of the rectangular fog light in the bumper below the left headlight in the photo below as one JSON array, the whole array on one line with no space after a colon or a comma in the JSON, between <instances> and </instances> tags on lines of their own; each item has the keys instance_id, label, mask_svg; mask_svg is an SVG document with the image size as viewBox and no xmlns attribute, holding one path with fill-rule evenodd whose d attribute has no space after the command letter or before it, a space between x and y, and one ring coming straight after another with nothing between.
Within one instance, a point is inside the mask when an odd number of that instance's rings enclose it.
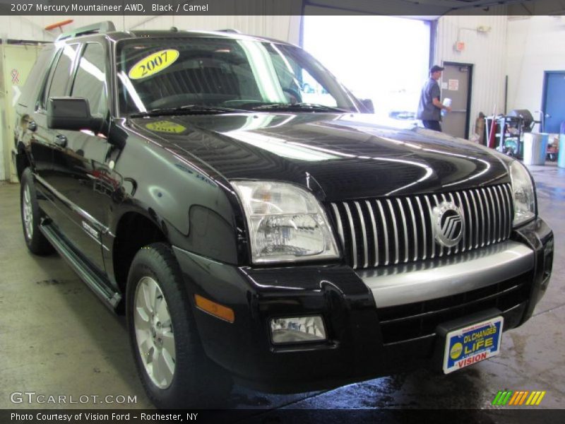
<instances>
[{"instance_id":1,"label":"rectangular fog light in the bumper below the left headlight","mask_svg":"<svg viewBox=\"0 0 565 424\"><path fill-rule=\"evenodd\" d=\"M319 315L271 319L270 334L275 344L326 340L326 329Z\"/></svg>"}]
</instances>

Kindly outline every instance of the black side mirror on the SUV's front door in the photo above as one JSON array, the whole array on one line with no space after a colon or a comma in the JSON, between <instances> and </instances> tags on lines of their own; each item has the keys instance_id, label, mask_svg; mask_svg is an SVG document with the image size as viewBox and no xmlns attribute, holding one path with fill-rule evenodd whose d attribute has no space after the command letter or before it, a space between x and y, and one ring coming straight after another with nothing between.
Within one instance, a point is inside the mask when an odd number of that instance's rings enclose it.
<instances>
[{"instance_id":1,"label":"black side mirror on the SUV's front door","mask_svg":"<svg viewBox=\"0 0 565 424\"><path fill-rule=\"evenodd\" d=\"M88 100L83 98L49 98L47 101L47 127L51 129L80 130L97 132L104 119L90 115Z\"/></svg>"}]
</instances>

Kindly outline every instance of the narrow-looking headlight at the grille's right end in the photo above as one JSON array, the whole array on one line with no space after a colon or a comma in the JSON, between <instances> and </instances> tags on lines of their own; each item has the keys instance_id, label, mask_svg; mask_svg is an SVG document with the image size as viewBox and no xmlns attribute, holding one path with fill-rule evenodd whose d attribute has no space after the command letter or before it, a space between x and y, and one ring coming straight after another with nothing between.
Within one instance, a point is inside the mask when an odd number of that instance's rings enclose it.
<instances>
[{"instance_id":1,"label":"narrow-looking headlight at the grille's right end","mask_svg":"<svg viewBox=\"0 0 565 424\"><path fill-rule=\"evenodd\" d=\"M535 194L532 179L524 165L514 160L510 165L512 199L514 201L513 226L516 227L535 217Z\"/></svg>"}]
</instances>

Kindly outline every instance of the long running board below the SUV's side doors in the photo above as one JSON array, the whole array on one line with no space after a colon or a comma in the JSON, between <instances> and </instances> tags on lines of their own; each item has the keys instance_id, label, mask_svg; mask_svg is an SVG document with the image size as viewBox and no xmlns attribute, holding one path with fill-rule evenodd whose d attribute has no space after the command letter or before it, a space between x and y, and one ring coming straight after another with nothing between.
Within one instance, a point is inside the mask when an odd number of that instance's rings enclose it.
<instances>
[{"instance_id":1,"label":"long running board below the SUV's side doors","mask_svg":"<svg viewBox=\"0 0 565 424\"><path fill-rule=\"evenodd\" d=\"M104 278L98 276L97 273L93 271L92 266L87 264L69 247L69 244L59 236L57 230L52 228L50 223L42 223L40 230L57 252L59 252L61 257L71 265L73 271L78 273L78 276L88 285L90 290L93 290L95 295L97 295L107 307L115 311L121 300L121 295L107 288L107 283L105 283Z\"/></svg>"}]
</instances>

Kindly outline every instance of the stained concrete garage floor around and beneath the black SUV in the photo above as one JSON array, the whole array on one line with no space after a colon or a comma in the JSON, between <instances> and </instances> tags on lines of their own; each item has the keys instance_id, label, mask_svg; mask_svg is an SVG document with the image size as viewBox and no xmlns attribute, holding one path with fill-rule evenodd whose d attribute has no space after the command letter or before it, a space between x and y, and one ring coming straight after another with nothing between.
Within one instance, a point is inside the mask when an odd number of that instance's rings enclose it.
<instances>
[{"instance_id":1,"label":"stained concrete garage floor around and beneath the black SUV","mask_svg":"<svg viewBox=\"0 0 565 424\"><path fill-rule=\"evenodd\" d=\"M235 387L232 407L489 410L497 391L511 389L545 390L537 408L565 408L565 170L554 163L531 170L540 215L555 232L554 271L534 316L504 334L499 356L447 376L421 370L292 396ZM123 317L109 312L59 256L28 253L17 184L0 183L0 235L0 408L152 408ZM13 392L66 395L67 402L73 396L79 403L13 404ZM89 396L84 404L83 395ZM136 403L94 403L93 395L136 396Z\"/></svg>"}]
</instances>

